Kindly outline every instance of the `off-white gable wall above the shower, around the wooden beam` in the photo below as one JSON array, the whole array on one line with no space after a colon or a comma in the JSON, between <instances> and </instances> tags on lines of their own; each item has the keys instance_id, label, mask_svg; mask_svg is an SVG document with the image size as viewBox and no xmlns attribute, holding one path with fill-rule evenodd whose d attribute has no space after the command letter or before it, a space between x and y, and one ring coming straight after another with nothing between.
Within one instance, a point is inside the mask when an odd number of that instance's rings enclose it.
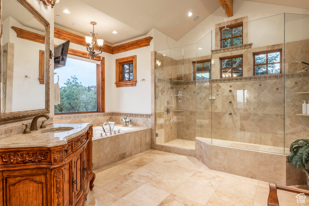
<instances>
[{"instance_id":1,"label":"off-white gable wall above the shower, around the wooden beam","mask_svg":"<svg viewBox=\"0 0 309 206\"><path fill-rule=\"evenodd\" d=\"M300 9L288 6L278 6L273 4L263 4L234 0L234 16L229 17L226 21L248 16L248 21L269 17L282 13L309 14L308 9ZM201 40L208 32L215 29L215 24L224 22L223 8L218 8L214 13L209 15L196 27L190 30L186 35L177 41L178 46L193 44ZM248 40L249 43L249 40Z\"/></svg>"}]
</instances>

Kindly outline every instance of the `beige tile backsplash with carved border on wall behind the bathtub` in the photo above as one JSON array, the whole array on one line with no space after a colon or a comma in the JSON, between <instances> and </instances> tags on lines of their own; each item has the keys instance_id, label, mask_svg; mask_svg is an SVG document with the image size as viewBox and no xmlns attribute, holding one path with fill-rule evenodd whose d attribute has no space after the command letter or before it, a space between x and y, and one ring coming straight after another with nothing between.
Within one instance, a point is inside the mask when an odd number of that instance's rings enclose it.
<instances>
[{"instance_id":1,"label":"beige tile backsplash with carved border on wall behind the bathtub","mask_svg":"<svg viewBox=\"0 0 309 206\"><path fill-rule=\"evenodd\" d=\"M84 123L91 122L94 125L100 125L104 122L116 122L122 124L120 121L123 117L128 116L132 120L133 125L141 127L150 127L151 115L148 114L131 114L119 112L105 112L105 113L88 113L88 114L74 114L74 115L55 115L55 123Z\"/></svg>"}]
</instances>

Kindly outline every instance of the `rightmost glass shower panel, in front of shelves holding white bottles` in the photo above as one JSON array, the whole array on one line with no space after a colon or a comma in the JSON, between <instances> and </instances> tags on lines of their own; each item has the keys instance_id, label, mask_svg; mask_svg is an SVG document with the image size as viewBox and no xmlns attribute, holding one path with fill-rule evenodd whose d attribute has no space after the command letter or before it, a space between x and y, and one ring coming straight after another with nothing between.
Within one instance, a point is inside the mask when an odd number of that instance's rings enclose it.
<instances>
[{"instance_id":1,"label":"rightmost glass shower panel, in front of shelves holding white bottles","mask_svg":"<svg viewBox=\"0 0 309 206\"><path fill-rule=\"evenodd\" d=\"M303 101L309 101L309 15L285 14L285 153L297 139L308 139L309 114L303 114ZM303 69L302 69L303 68ZM305 71L304 71L305 70ZM306 102L308 103L308 102Z\"/></svg>"}]
</instances>

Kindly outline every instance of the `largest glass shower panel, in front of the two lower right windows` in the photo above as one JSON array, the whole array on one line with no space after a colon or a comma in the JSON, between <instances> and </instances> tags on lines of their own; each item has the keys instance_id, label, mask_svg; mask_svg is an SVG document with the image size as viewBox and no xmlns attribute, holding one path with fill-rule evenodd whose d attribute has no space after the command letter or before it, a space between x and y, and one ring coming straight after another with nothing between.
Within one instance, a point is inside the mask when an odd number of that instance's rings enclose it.
<instances>
[{"instance_id":1,"label":"largest glass shower panel, in front of the two lower right windows","mask_svg":"<svg viewBox=\"0 0 309 206\"><path fill-rule=\"evenodd\" d=\"M243 23L243 45L213 31L212 143L284 153L284 14Z\"/></svg>"}]
</instances>

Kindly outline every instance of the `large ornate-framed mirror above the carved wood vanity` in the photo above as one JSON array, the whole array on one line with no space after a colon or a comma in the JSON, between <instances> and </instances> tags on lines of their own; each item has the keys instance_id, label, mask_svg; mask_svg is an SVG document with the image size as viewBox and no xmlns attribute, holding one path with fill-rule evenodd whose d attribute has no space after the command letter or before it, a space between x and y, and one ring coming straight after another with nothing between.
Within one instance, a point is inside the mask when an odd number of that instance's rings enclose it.
<instances>
[{"instance_id":1,"label":"large ornate-framed mirror above the carved wood vanity","mask_svg":"<svg viewBox=\"0 0 309 206\"><path fill-rule=\"evenodd\" d=\"M49 22L26 0L0 0L0 124L49 113Z\"/></svg>"}]
</instances>

